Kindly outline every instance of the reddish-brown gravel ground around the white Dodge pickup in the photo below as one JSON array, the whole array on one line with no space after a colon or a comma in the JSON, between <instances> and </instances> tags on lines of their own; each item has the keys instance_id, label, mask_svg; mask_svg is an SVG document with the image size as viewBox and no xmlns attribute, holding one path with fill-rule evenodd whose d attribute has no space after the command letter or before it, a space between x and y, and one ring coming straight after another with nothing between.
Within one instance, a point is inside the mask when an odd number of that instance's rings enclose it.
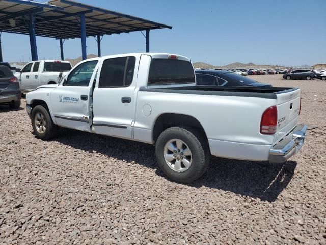
<instances>
[{"instance_id":1,"label":"reddish-brown gravel ground around the white Dodge pickup","mask_svg":"<svg viewBox=\"0 0 326 245\"><path fill-rule=\"evenodd\" d=\"M63 129L35 138L0 106L0 244L326 244L326 82L302 89L309 124L284 164L213 158L192 184L167 180L151 145Z\"/></svg>"}]
</instances>

